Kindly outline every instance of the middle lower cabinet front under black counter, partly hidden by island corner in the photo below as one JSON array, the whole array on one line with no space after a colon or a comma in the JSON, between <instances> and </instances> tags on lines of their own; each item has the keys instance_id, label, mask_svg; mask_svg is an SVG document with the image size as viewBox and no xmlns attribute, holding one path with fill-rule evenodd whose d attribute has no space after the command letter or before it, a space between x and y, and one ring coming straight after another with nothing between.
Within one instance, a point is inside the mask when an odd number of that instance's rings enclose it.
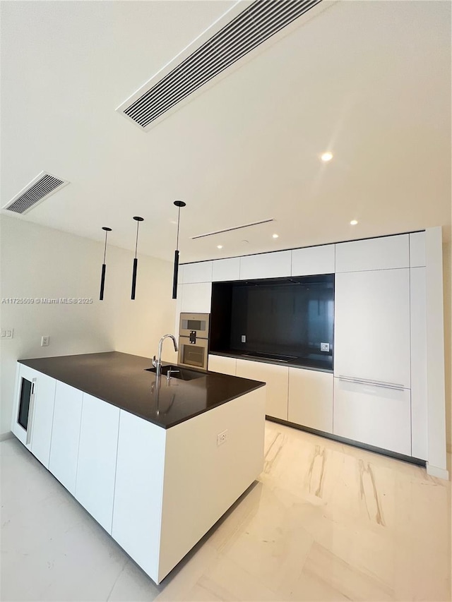
<instances>
[{"instance_id":1,"label":"middle lower cabinet front under black counter, partly hidden by island corner","mask_svg":"<svg viewBox=\"0 0 452 602\"><path fill-rule=\"evenodd\" d=\"M289 368L273 363L237 359L237 376L261 380L266 386L266 416L287 420Z\"/></svg>"}]
</instances>

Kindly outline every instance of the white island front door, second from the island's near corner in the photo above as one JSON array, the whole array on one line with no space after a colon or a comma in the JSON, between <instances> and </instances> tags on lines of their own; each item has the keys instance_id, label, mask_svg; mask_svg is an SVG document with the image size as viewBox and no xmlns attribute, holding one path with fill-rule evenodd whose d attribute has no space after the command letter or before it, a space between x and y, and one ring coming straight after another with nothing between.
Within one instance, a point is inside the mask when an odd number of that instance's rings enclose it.
<instances>
[{"instance_id":1,"label":"white island front door, second from the island's near corner","mask_svg":"<svg viewBox=\"0 0 452 602\"><path fill-rule=\"evenodd\" d=\"M111 534L119 408L83 393L76 499Z\"/></svg>"}]
</instances>

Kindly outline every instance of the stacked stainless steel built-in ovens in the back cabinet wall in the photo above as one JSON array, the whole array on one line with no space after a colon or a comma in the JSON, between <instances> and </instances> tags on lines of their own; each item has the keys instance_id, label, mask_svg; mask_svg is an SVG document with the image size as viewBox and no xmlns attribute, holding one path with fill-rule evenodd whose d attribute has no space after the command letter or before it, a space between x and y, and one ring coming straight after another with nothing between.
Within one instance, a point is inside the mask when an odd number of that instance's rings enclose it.
<instances>
[{"instance_id":1,"label":"stacked stainless steel built-in ovens in the back cabinet wall","mask_svg":"<svg viewBox=\"0 0 452 602\"><path fill-rule=\"evenodd\" d=\"M181 313L179 364L207 370L209 323L210 314L208 313Z\"/></svg>"}]
</instances>

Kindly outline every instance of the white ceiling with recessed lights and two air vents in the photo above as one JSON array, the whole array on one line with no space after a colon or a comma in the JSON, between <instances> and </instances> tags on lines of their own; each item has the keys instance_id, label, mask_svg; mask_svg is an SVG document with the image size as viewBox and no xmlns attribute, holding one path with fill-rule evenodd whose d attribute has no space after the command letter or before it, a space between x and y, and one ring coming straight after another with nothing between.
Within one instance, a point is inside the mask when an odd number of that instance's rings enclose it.
<instances>
[{"instance_id":1,"label":"white ceiling with recessed lights and two air vents","mask_svg":"<svg viewBox=\"0 0 452 602\"><path fill-rule=\"evenodd\" d=\"M49 171L71 184L17 219L133 249L142 215L167 260L176 199L182 261L450 236L451 3L323 0L150 132L115 111L233 5L1 2L1 205Z\"/></svg>"}]
</instances>

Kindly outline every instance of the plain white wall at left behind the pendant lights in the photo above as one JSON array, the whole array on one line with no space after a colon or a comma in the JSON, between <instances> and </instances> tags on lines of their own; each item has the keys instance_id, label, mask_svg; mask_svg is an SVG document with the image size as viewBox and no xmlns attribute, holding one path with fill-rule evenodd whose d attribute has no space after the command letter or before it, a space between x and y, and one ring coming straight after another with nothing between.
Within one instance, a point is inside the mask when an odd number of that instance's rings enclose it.
<instances>
[{"instance_id":1,"label":"plain white wall at left behind the pendant lights","mask_svg":"<svg viewBox=\"0 0 452 602\"><path fill-rule=\"evenodd\" d=\"M0 325L13 339L0 342L0 435L11 428L16 361L97 351L152 357L160 337L174 330L172 263L139 256L131 301L133 253L109 246L105 300L99 301L103 243L1 215ZM85 297L92 304L11 304L8 297ZM41 347L42 335L50 336ZM168 346L165 359L174 361Z\"/></svg>"}]
</instances>

